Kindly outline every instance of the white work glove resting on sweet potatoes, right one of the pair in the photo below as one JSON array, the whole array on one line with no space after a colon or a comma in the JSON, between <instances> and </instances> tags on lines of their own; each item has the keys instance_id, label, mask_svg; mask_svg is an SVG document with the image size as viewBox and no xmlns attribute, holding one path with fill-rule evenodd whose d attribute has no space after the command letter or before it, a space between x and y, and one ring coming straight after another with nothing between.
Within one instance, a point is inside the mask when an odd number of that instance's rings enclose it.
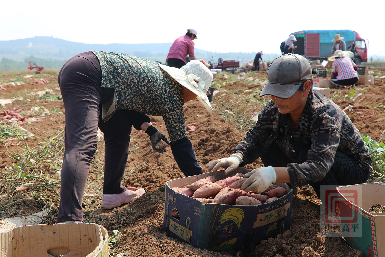
<instances>
[{"instance_id":1,"label":"white work glove resting on sweet potatoes, right one of the pair","mask_svg":"<svg viewBox=\"0 0 385 257\"><path fill-rule=\"evenodd\" d=\"M261 167L243 175L248 180L244 181L241 189L245 192L264 192L272 183L277 180L277 174L273 166Z\"/></svg>"}]
</instances>

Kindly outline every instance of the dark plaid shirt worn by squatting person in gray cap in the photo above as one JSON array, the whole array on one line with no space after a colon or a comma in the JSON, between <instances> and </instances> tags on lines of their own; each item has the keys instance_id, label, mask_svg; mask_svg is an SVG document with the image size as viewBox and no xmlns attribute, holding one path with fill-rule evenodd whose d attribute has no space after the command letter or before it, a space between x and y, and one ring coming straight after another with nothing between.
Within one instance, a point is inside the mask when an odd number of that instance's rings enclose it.
<instances>
[{"instance_id":1,"label":"dark plaid shirt worn by squatting person in gray cap","mask_svg":"<svg viewBox=\"0 0 385 257\"><path fill-rule=\"evenodd\" d=\"M334 163L336 151L355 160L361 168L372 170L372 159L358 129L342 109L318 92L311 91L296 128L291 131L290 116L281 114L273 101L259 112L256 125L246 133L234 153L243 155L240 166L252 163L276 138L277 146L293 160L288 163L291 187L322 180ZM311 145L308 160L295 163L298 152Z\"/></svg>"}]
</instances>

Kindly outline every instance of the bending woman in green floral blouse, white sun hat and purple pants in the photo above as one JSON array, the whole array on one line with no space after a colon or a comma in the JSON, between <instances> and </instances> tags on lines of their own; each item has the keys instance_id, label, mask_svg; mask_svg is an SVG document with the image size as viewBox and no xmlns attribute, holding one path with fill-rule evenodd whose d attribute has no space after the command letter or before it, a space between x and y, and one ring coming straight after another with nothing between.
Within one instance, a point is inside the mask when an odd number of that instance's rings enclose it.
<instances>
[{"instance_id":1,"label":"bending woman in green floral blouse, white sun hat and purple pants","mask_svg":"<svg viewBox=\"0 0 385 257\"><path fill-rule=\"evenodd\" d=\"M170 144L184 175L202 173L186 136L183 104L198 98L213 113L206 96L212 81L213 74L198 60L181 69L99 51L68 60L58 76L65 108L65 153L57 222L83 220L82 197L97 148L98 127L105 141L102 209L118 207L144 194L143 188L121 185L132 125L150 136L153 148L160 141ZM171 142L143 113L163 117Z\"/></svg>"}]
</instances>

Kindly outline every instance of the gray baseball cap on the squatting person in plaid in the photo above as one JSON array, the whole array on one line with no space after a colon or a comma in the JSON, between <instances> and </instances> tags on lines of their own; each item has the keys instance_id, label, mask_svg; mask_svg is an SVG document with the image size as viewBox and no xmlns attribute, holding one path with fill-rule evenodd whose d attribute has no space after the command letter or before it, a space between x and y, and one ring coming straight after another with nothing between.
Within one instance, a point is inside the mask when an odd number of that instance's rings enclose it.
<instances>
[{"instance_id":1,"label":"gray baseball cap on the squatting person in plaid","mask_svg":"<svg viewBox=\"0 0 385 257\"><path fill-rule=\"evenodd\" d=\"M290 98L308 79L312 80L310 63L298 54L284 54L271 62L267 71L269 82L259 96L276 96Z\"/></svg>"}]
</instances>

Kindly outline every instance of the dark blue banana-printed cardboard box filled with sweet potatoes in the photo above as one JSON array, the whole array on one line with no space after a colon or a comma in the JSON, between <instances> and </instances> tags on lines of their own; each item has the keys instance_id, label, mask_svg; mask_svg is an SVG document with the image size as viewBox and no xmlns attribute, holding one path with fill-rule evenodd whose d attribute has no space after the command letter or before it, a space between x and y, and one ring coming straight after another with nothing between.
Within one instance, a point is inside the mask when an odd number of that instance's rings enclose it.
<instances>
[{"instance_id":1,"label":"dark blue banana-printed cardboard box filled with sweet potatoes","mask_svg":"<svg viewBox=\"0 0 385 257\"><path fill-rule=\"evenodd\" d=\"M231 175L249 171L238 168ZM228 176L221 170L166 182L163 230L167 235L192 247L221 250L257 244L291 229L293 190L286 184L275 183L286 189L286 195L256 206L202 203L171 189L210 175L217 180Z\"/></svg>"}]
</instances>

